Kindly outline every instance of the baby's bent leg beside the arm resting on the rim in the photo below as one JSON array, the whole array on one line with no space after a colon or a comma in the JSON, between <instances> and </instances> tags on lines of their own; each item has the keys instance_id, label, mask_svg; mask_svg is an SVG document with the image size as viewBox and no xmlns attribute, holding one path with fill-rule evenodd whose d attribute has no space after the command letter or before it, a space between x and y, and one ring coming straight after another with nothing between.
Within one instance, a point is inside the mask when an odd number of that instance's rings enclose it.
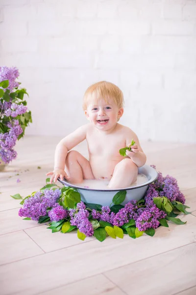
<instances>
[{"instance_id":1,"label":"baby's bent leg beside the arm resting on the rim","mask_svg":"<svg viewBox=\"0 0 196 295\"><path fill-rule=\"evenodd\" d=\"M81 183L83 179L95 179L89 161L78 151L68 152L65 160L65 171L71 183Z\"/></svg>"}]
</instances>

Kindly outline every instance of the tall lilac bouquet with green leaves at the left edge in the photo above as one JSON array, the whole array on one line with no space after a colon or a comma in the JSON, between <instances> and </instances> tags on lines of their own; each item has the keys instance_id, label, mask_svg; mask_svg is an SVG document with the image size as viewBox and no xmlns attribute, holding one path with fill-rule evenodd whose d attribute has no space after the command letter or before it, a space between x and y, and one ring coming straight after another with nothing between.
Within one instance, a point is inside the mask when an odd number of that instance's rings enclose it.
<instances>
[{"instance_id":1,"label":"tall lilac bouquet with green leaves at the left edge","mask_svg":"<svg viewBox=\"0 0 196 295\"><path fill-rule=\"evenodd\" d=\"M24 100L24 94L28 93L24 88L19 89L18 77L16 67L0 67L0 170L16 159L16 141L24 136L26 126L32 122Z\"/></svg>"}]
</instances>

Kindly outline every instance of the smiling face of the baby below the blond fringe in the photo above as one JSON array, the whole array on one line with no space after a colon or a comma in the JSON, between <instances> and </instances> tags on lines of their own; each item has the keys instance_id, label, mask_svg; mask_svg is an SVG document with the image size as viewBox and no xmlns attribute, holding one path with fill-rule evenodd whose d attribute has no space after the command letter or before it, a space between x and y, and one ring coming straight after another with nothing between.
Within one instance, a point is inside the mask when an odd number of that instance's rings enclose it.
<instances>
[{"instance_id":1,"label":"smiling face of the baby below the blond fringe","mask_svg":"<svg viewBox=\"0 0 196 295\"><path fill-rule=\"evenodd\" d=\"M108 103L102 99L97 104L88 105L85 115L96 128L106 131L116 126L123 115L123 108L119 109L112 98L108 99Z\"/></svg>"}]
</instances>

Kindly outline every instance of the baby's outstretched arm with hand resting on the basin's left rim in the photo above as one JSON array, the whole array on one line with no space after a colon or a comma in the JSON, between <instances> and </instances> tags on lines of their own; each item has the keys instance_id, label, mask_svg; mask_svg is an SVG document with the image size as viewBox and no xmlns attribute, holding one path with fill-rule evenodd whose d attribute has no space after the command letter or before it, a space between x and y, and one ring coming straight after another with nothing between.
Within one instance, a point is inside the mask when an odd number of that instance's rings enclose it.
<instances>
[{"instance_id":1,"label":"baby's outstretched arm with hand resting on the basin's left rim","mask_svg":"<svg viewBox=\"0 0 196 295\"><path fill-rule=\"evenodd\" d=\"M63 180L63 177L69 179L67 173L65 172L65 160L68 154L68 151L75 146L77 146L79 143L81 143L86 138L86 132L87 132L88 124L85 124L75 131L73 131L71 134L63 138L55 149L54 154L54 170L52 172L47 173L47 176L51 175L50 183L52 183L52 180L54 179L54 182L56 182L57 178L60 176L61 180Z\"/></svg>"}]
</instances>

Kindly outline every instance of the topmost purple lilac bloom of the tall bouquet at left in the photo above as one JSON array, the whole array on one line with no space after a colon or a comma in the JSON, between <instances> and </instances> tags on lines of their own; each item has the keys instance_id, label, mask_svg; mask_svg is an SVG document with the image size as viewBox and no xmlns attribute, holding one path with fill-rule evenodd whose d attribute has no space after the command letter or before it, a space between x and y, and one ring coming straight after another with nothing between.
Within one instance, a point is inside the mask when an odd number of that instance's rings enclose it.
<instances>
[{"instance_id":1,"label":"topmost purple lilac bloom of the tall bouquet at left","mask_svg":"<svg viewBox=\"0 0 196 295\"><path fill-rule=\"evenodd\" d=\"M19 71L16 67L0 66L0 82L9 80L9 86L6 89L13 90L19 86L15 80L19 77ZM6 90L3 89L3 90Z\"/></svg>"}]
</instances>

